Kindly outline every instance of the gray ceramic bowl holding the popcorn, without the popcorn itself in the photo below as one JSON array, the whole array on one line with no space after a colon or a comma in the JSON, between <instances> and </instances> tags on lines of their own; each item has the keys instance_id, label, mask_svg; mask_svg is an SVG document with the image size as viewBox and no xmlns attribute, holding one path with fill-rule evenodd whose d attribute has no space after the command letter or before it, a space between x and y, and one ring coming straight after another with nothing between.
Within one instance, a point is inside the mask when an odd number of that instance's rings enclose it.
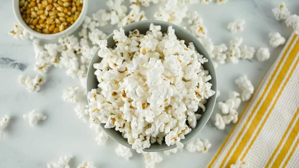
<instances>
[{"instance_id":1,"label":"gray ceramic bowl holding the popcorn, without the popcorn itself","mask_svg":"<svg viewBox=\"0 0 299 168\"><path fill-rule=\"evenodd\" d=\"M172 26L175 29L175 33L176 33L176 36L178 37L178 39L185 40L186 45L189 42L194 43L194 46L196 47L197 51L200 54L204 55L209 60L209 62L205 63L203 65L203 67L205 68L205 70L209 71L209 73L212 77L212 79L209 81L210 83L213 84L212 90L217 91L215 69L213 67L210 56L208 55L207 51L202 46L202 44L196 39L196 37L194 37L187 30L184 30L183 28L181 28L177 25L174 25L174 24L171 24L168 22L158 21L158 20L146 20L146 21L131 23L129 25L124 26L123 29L124 29L126 35L129 34L129 31L134 30L134 29L138 29L140 31L140 33L145 34L146 31L149 30L149 25L151 23L153 23L154 25L160 25L162 33L167 32L168 26ZM108 42L108 46L107 46L108 48L113 47L115 45L115 42L113 40L113 33L110 34L106 38L106 40ZM98 48L97 52L94 54L94 56L91 59L91 62L89 64L89 68L87 71L87 92L91 91L91 89L97 88L97 85L98 85L97 78L94 75L95 69L93 68L93 64L100 62L102 59L97 55L99 50L100 50L100 48ZM205 124L208 122L208 120L213 112L215 102L216 102L216 94L208 99L208 102L205 104L205 107L206 107L205 112L202 112L202 110L199 110L198 113L202 114L201 119L198 120L196 128L192 129L192 131L189 134L185 135L185 139L181 140L182 143L184 143L184 144L187 143L194 135L196 135L205 126ZM127 143L127 139L123 138L121 136L120 132L116 131L113 128L106 129L106 128L104 128L104 124L100 124L100 126L104 129L104 131L109 135L110 138L112 138L113 140L117 141L118 143L120 143L124 146L132 148L132 145ZM165 144L165 142L162 143L161 145L159 145L158 143L154 143L154 144L151 144L151 146L149 148L144 149L144 151L145 152L159 152L159 151L173 149L175 147L176 147L176 145L167 146Z\"/></svg>"}]
</instances>

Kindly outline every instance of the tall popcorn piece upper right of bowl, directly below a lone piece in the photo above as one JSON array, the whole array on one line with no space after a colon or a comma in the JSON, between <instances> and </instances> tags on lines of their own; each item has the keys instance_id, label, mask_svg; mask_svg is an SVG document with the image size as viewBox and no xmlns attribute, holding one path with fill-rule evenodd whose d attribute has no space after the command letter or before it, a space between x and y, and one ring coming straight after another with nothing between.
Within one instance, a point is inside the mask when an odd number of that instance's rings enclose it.
<instances>
[{"instance_id":1,"label":"tall popcorn piece upper right of bowl, directly below a lone piece","mask_svg":"<svg viewBox=\"0 0 299 168\"><path fill-rule=\"evenodd\" d=\"M227 52L228 62L232 64L237 64L239 62L239 58L241 58L241 50L239 47L242 44L242 42L243 42L242 37L231 40L231 45Z\"/></svg>"}]
</instances>

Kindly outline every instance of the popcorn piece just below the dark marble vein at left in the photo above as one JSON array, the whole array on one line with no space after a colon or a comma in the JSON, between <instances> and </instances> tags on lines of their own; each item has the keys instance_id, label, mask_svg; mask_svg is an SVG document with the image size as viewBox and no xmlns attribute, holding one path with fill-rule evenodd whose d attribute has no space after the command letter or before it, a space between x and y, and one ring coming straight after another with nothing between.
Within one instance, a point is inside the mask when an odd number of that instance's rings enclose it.
<instances>
[{"instance_id":1,"label":"popcorn piece just below the dark marble vein at left","mask_svg":"<svg viewBox=\"0 0 299 168\"><path fill-rule=\"evenodd\" d=\"M43 75L37 74L34 79L31 79L29 76L24 77L23 75L19 76L19 83L21 85L26 86L26 89L29 92L36 92L40 90L40 85L45 83L45 79Z\"/></svg>"}]
</instances>

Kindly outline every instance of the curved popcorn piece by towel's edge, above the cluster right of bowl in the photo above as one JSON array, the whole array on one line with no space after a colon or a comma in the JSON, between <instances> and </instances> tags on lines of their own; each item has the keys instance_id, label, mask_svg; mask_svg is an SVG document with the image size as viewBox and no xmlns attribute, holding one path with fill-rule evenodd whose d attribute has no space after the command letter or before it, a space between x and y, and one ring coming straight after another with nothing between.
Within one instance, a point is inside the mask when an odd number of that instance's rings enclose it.
<instances>
[{"instance_id":1,"label":"curved popcorn piece by towel's edge, above the cluster right of bowl","mask_svg":"<svg viewBox=\"0 0 299 168\"><path fill-rule=\"evenodd\" d=\"M246 75L240 76L235 80L236 85L242 90L241 99L242 101L247 101L253 94L254 87L250 80L247 79Z\"/></svg>"}]
</instances>

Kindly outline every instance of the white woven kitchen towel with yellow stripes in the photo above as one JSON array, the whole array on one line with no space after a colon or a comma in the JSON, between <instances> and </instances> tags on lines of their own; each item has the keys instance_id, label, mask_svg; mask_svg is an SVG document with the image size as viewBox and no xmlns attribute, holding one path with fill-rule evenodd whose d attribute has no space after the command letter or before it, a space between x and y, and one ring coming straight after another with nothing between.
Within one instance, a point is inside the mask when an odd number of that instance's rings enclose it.
<instances>
[{"instance_id":1,"label":"white woven kitchen towel with yellow stripes","mask_svg":"<svg viewBox=\"0 0 299 168\"><path fill-rule=\"evenodd\" d=\"M299 168L298 38L291 35L208 168Z\"/></svg>"}]
</instances>

